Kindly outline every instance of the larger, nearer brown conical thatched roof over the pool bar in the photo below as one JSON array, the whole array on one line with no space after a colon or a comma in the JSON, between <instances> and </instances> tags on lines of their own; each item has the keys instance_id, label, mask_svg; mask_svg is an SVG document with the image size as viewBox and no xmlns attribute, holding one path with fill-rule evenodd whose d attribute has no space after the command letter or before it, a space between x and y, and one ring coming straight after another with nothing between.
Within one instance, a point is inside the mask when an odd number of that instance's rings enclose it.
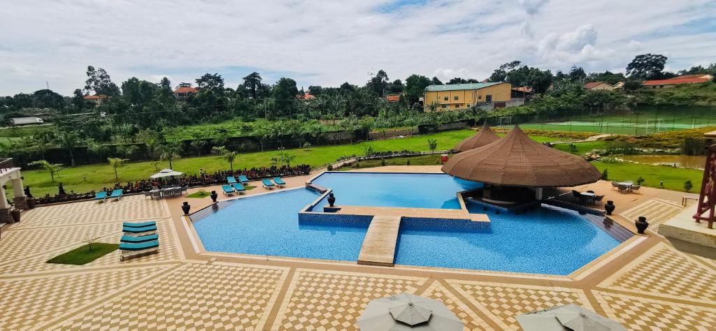
<instances>
[{"instance_id":1,"label":"larger, nearer brown conical thatched roof over the pool bar","mask_svg":"<svg viewBox=\"0 0 716 331\"><path fill-rule=\"evenodd\" d=\"M535 142L518 126L497 142L451 157L442 172L474 182L518 187L569 187L601 178L589 162Z\"/></svg>"}]
</instances>

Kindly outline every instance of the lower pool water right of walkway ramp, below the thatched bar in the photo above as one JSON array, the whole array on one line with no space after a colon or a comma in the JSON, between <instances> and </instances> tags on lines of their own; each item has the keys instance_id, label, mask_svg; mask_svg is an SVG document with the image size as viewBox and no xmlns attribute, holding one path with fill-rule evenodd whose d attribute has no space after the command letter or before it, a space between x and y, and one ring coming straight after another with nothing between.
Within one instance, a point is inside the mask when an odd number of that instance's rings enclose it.
<instances>
[{"instance_id":1,"label":"lower pool water right of walkway ramp, below the thatched bar","mask_svg":"<svg viewBox=\"0 0 716 331\"><path fill-rule=\"evenodd\" d=\"M466 202L471 213L483 207ZM524 214L488 212L490 226L403 219L395 263L569 275L619 242L577 212L543 206Z\"/></svg>"}]
</instances>

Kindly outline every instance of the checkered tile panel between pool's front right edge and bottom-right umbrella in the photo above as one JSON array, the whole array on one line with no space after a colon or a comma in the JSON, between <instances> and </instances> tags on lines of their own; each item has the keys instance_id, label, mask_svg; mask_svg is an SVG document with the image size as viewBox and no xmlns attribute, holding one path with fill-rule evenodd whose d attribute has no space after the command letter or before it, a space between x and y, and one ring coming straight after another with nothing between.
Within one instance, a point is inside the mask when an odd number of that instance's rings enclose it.
<instances>
[{"instance_id":1,"label":"checkered tile panel between pool's front right edge and bottom-right umbrella","mask_svg":"<svg viewBox=\"0 0 716 331\"><path fill-rule=\"evenodd\" d=\"M515 317L526 312L570 303L591 309L581 290L457 280L448 280L448 283L503 330L520 330Z\"/></svg>"}]
</instances>

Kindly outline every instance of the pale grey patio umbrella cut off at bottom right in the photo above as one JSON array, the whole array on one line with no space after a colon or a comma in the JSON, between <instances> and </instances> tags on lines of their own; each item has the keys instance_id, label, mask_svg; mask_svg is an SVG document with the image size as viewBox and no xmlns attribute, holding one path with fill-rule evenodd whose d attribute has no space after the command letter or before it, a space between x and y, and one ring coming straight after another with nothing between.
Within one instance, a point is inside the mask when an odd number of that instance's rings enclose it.
<instances>
[{"instance_id":1,"label":"pale grey patio umbrella cut off at bottom right","mask_svg":"<svg viewBox=\"0 0 716 331\"><path fill-rule=\"evenodd\" d=\"M570 304L519 315L517 321L525 331L626 331L619 322L609 320L584 307Z\"/></svg>"}]
</instances>

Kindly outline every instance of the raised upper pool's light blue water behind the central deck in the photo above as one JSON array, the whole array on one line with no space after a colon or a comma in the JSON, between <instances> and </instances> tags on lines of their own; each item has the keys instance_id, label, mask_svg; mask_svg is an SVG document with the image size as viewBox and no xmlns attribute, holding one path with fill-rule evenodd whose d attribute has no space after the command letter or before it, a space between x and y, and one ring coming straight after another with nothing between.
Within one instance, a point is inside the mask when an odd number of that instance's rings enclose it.
<instances>
[{"instance_id":1,"label":"raised upper pool's light blue water behind the central deck","mask_svg":"<svg viewBox=\"0 0 716 331\"><path fill-rule=\"evenodd\" d=\"M313 182L333 189L339 206L372 207L460 209L457 192L483 187L447 174L326 172ZM314 210L327 204L323 199Z\"/></svg>"}]
</instances>

